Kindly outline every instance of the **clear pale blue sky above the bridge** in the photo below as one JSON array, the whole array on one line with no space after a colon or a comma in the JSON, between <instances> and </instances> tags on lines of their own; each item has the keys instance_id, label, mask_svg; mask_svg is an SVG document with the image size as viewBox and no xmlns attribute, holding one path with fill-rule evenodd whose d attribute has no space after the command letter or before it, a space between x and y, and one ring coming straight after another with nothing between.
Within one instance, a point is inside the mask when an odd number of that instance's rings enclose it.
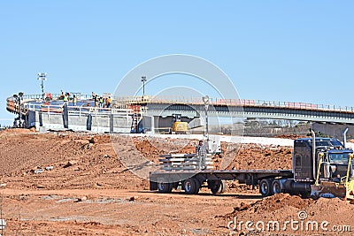
<instances>
[{"instance_id":1,"label":"clear pale blue sky above the bridge","mask_svg":"<svg viewBox=\"0 0 354 236\"><path fill-rule=\"evenodd\" d=\"M2 1L0 118L13 118L7 96L40 94L37 72L52 93L113 92L174 53L218 65L241 98L354 106L353 12L353 1Z\"/></svg>"}]
</instances>

